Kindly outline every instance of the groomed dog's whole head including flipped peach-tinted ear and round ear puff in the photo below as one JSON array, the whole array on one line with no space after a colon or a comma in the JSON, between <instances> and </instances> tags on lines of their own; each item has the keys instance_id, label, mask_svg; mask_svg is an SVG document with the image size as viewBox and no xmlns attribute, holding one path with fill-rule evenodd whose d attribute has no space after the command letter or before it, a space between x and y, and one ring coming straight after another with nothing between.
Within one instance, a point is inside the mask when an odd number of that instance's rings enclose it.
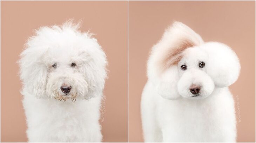
<instances>
[{"instance_id":1,"label":"groomed dog's whole head including flipped peach-tinted ear and round ear puff","mask_svg":"<svg viewBox=\"0 0 256 143\"><path fill-rule=\"evenodd\" d=\"M148 79L164 98L206 98L215 87L228 87L240 74L235 52L202 38L175 22L157 43L148 61Z\"/></svg>"}]
</instances>

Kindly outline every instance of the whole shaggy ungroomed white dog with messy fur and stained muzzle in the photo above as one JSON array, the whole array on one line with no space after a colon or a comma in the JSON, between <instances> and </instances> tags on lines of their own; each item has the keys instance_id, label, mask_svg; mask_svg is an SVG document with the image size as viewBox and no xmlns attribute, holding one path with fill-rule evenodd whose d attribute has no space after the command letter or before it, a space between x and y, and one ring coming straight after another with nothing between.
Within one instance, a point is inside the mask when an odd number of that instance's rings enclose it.
<instances>
[{"instance_id":1,"label":"whole shaggy ungroomed white dog with messy fur and stained muzzle","mask_svg":"<svg viewBox=\"0 0 256 143\"><path fill-rule=\"evenodd\" d=\"M29 142L101 142L107 60L97 40L72 21L41 27L21 53Z\"/></svg>"}]
</instances>

